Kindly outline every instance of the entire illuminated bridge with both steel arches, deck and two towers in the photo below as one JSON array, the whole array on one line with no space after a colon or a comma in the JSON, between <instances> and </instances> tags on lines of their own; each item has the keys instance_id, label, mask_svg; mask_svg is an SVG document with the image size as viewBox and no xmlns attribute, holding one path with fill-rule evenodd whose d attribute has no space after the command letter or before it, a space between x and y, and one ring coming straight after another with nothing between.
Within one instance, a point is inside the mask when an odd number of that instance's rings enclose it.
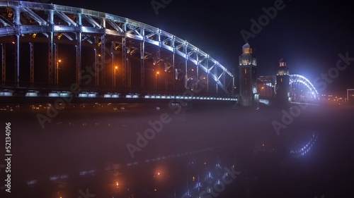
<instances>
[{"instance_id":1,"label":"entire illuminated bridge with both steel arches, deck and two towers","mask_svg":"<svg viewBox=\"0 0 354 198\"><path fill-rule=\"evenodd\" d=\"M110 13L0 1L1 97L200 99L242 106L316 100L307 78L257 76L244 44L238 66L175 35Z\"/></svg>"}]
</instances>

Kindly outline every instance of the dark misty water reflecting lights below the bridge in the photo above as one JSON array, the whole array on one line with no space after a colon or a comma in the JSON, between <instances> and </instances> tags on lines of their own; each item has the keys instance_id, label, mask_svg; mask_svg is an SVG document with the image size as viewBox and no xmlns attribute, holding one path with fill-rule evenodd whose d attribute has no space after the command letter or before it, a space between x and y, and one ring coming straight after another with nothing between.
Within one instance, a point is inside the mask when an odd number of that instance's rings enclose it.
<instances>
[{"instance_id":1,"label":"dark misty water reflecting lights below the bridge","mask_svg":"<svg viewBox=\"0 0 354 198\"><path fill-rule=\"evenodd\" d=\"M120 110L2 112L0 197L353 197L353 107Z\"/></svg>"}]
</instances>

